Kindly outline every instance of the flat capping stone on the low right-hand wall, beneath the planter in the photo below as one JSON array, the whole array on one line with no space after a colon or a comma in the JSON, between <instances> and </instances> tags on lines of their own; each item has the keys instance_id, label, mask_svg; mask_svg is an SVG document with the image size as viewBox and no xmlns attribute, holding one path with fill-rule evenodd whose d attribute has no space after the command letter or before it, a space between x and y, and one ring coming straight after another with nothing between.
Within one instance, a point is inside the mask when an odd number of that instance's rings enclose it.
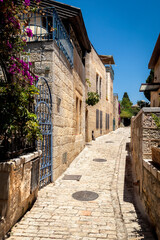
<instances>
[{"instance_id":1,"label":"flat capping stone on the low right-hand wall, beneath the planter","mask_svg":"<svg viewBox=\"0 0 160 240\"><path fill-rule=\"evenodd\" d=\"M146 168L158 181L160 181L160 168L153 165L152 159L143 159L143 167Z\"/></svg>"}]
</instances>

